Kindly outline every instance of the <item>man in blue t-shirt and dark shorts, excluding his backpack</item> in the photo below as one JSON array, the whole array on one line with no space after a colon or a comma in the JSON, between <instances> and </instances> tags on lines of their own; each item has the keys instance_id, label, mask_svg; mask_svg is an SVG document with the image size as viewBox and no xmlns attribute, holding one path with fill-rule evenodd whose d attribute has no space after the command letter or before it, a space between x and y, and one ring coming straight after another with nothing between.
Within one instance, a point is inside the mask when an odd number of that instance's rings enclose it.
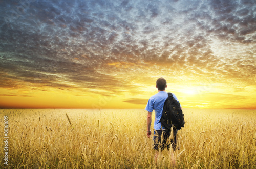
<instances>
[{"instance_id":1,"label":"man in blue t-shirt and dark shorts, excluding his backpack","mask_svg":"<svg viewBox=\"0 0 256 169\"><path fill-rule=\"evenodd\" d=\"M164 129L164 127L161 126L161 116L162 116L162 111L163 111L163 105L164 101L168 97L168 93L165 92L165 88L167 87L166 80L164 78L159 78L157 79L156 82L156 88L158 89L158 93L150 97L150 99L147 102L145 110L147 111L147 131L146 135L148 138L151 136L151 122L152 122L152 112L155 110L155 121L154 121L154 146L153 149L156 150L155 154L155 162L157 162L158 155L159 155L159 148L163 150L164 148L169 149L170 145L173 146L173 149L175 150L176 148L176 134L177 130L173 130L173 139L172 142L168 142L168 138L170 137L170 134L172 133L169 130ZM173 94L173 97L178 101L177 97L175 94ZM179 102L179 101L178 101ZM161 140L161 135L163 134L163 140ZM173 144L172 144L173 143ZM170 151L171 157L172 157L172 163L175 165L175 159L174 159L174 154L173 151Z\"/></svg>"}]
</instances>

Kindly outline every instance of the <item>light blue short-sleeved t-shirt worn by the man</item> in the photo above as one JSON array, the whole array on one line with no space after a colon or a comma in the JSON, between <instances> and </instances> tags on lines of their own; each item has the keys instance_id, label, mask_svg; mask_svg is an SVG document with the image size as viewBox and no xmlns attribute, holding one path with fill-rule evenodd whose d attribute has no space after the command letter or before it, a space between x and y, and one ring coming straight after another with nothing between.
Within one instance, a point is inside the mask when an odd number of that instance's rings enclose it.
<instances>
[{"instance_id":1,"label":"light blue short-sleeved t-shirt worn by the man","mask_svg":"<svg viewBox=\"0 0 256 169\"><path fill-rule=\"evenodd\" d=\"M155 110L155 122L154 122L155 130L161 129L160 119L162 116L163 104L164 104L164 101L167 99L167 97L168 97L167 92L159 91L157 94L151 96L150 99L148 99L145 110L148 112L152 112L153 110ZM173 97L178 101L175 94L173 94Z\"/></svg>"}]
</instances>

